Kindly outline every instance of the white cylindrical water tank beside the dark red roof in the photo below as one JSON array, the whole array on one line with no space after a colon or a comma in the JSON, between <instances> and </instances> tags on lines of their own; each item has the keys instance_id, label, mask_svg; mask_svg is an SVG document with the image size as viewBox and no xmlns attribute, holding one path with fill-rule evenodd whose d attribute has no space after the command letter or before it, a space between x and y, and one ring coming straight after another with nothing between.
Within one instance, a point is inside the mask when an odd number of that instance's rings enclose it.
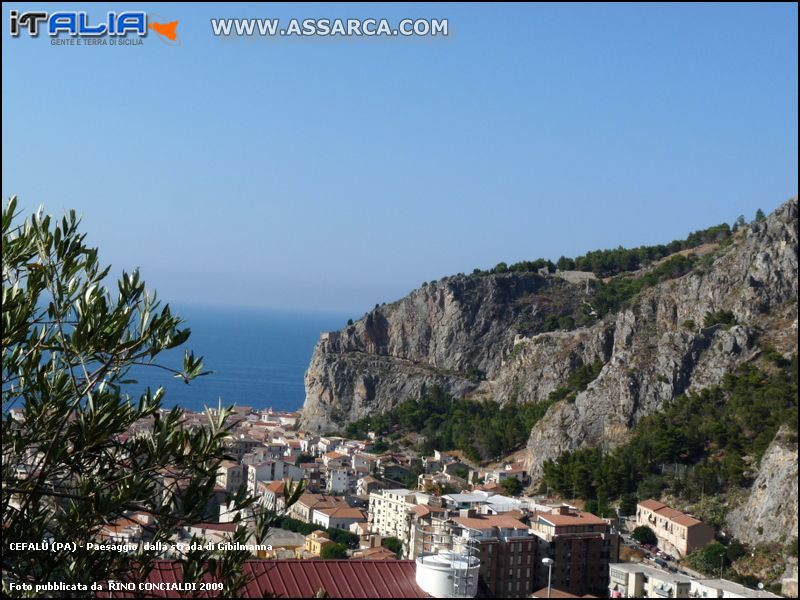
<instances>
[{"instance_id":1,"label":"white cylindrical water tank beside the dark red roof","mask_svg":"<svg viewBox=\"0 0 800 600\"><path fill-rule=\"evenodd\" d=\"M420 556L417 585L434 598L474 598L478 592L480 560L455 552Z\"/></svg>"}]
</instances>

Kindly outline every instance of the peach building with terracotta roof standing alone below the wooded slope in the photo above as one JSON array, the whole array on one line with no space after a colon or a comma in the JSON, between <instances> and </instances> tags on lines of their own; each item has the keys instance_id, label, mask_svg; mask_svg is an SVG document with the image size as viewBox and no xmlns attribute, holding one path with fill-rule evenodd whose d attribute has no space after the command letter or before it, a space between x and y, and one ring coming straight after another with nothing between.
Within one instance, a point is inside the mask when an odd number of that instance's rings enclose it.
<instances>
[{"instance_id":1,"label":"peach building with terracotta roof standing alone below the wooded slope","mask_svg":"<svg viewBox=\"0 0 800 600\"><path fill-rule=\"evenodd\" d=\"M680 557L714 541L713 527L652 498L636 505L636 526L652 529L659 549Z\"/></svg>"}]
</instances>

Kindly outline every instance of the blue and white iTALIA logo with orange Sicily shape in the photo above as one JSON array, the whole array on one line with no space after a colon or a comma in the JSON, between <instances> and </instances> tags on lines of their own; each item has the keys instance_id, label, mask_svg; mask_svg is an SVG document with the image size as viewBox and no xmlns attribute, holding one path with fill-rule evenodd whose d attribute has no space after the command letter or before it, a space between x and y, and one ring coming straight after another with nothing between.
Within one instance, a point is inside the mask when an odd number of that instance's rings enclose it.
<instances>
[{"instance_id":1,"label":"blue and white iTALIA logo with orange Sicily shape","mask_svg":"<svg viewBox=\"0 0 800 600\"><path fill-rule=\"evenodd\" d=\"M44 32L51 37L67 34L72 37L98 38L102 36L126 37L129 35L145 37L153 30L164 41L178 42L178 21L148 24L147 13L142 11L108 12L105 20L92 21L85 11L44 11L9 12L11 35L18 37L25 30L30 37L38 37Z\"/></svg>"}]
</instances>

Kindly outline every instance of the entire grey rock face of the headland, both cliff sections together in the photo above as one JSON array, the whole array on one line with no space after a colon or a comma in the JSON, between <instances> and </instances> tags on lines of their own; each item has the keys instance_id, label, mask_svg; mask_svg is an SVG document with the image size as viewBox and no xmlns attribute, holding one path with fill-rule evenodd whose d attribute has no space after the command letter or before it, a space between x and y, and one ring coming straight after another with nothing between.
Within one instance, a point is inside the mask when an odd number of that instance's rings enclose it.
<instances>
[{"instance_id":1,"label":"entire grey rock face of the headland, both cliff sections together","mask_svg":"<svg viewBox=\"0 0 800 600\"><path fill-rule=\"evenodd\" d=\"M417 397L431 385L498 402L538 402L577 367L600 375L574 402L552 406L531 432L528 463L584 445L613 446L640 418L717 383L767 339L797 348L797 199L743 228L683 277L635 297L589 327L542 333L548 314L592 302L580 277L454 276L322 336L306 373L302 425L338 425ZM707 327L732 311L737 325Z\"/></svg>"}]
</instances>

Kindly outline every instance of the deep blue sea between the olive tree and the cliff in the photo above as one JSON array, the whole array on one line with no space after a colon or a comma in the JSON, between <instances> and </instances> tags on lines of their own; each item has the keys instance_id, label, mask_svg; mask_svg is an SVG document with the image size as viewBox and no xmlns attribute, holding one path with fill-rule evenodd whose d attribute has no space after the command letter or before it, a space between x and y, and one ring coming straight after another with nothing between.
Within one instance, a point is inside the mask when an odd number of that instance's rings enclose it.
<instances>
[{"instance_id":1,"label":"deep blue sea between the olive tree and the cliff","mask_svg":"<svg viewBox=\"0 0 800 600\"><path fill-rule=\"evenodd\" d=\"M188 385L163 370L137 369L126 385L133 398L150 386L163 386L164 406L202 410L204 405L239 404L254 408L297 410L303 405L303 375L314 345L323 331L340 329L346 316L293 313L278 310L171 305L185 326L189 340L159 357L160 364L180 368L183 349L203 356L213 371ZM161 359L161 357L164 357Z\"/></svg>"}]
</instances>

